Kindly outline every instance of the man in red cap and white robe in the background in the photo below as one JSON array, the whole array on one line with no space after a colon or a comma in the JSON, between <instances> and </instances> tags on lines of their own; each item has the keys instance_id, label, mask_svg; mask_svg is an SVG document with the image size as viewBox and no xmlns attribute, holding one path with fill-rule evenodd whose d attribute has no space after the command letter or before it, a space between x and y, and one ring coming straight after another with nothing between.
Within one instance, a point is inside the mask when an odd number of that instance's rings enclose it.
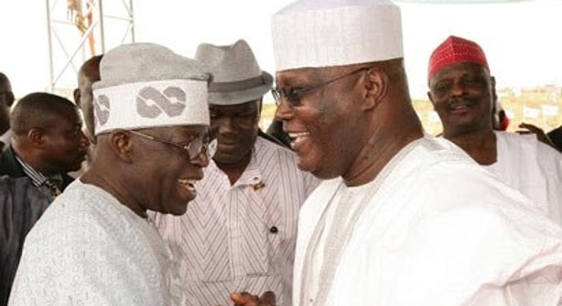
<instances>
[{"instance_id":1,"label":"man in red cap and white robe in the background","mask_svg":"<svg viewBox=\"0 0 562 306\"><path fill-rule=\"evenodd\" d=\"M430 57L428 83L443 137L562 224L562 154L535 134L494 131L489 118L497 100L496 83L482 48L450 36Z\"/></svg>"}]
</instances>

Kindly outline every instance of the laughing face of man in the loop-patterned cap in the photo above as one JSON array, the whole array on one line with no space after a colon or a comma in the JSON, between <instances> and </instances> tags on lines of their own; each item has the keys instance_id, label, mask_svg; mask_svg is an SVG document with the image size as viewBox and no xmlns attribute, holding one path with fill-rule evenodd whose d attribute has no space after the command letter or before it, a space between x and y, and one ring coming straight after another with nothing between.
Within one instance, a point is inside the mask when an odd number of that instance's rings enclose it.
<instances>
[{"instance_id":1,"label":"laughing face of man in the loop-patterned cap","mask_svg":"<svg viewBox=\"0 0 562 306\"><path fill-rule=\"evenodd\" d=\"M186 146L193 139L206 138L206 126L162 127L138 130L166 142ZM132 175L137 184L131 184L137 202L143 209L181 215L189 201L196 197L195 182L203 178L203 167L208 165L205 154L190 160L188 152L138 135L130 136L138 144L137 161Z\"/></svg>"}]
</instances>

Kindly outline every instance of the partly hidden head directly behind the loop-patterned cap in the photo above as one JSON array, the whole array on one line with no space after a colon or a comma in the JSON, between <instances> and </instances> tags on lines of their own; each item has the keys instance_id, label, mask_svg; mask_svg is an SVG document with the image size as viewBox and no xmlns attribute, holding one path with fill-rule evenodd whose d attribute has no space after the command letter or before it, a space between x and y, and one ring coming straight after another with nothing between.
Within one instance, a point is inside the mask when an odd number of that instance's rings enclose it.
<instances>
[{"instance_id":1,"label":"partly hidden head directly behind the loop-patterned cap","mask_svg":"<svg viewBox=\"0 0 562 306\"><path fill-rule=\"evenodd\" d=\"M95 142L95 124L94 108L92 105L94 100L92 84L100 80L100 61L102 57L102 55L93 56L83 63L78 71L78 88L74 91L74 100L76 105L78 105L83 112L86 130L88 130L88 137L93 142Z\"/></svg>"}]
</instances>

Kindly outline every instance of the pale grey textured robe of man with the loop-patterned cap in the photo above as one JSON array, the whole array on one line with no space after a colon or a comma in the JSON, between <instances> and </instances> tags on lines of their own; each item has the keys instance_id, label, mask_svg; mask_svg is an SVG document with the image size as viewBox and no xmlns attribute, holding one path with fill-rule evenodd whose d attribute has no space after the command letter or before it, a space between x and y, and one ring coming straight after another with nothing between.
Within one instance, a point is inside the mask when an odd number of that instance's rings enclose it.
<instances>
[{"instance_id":1,"label":"pale grey textured robe of man with the loop-patterned cap","mask_svg":"<svg viewBox=\"0 0 562 306\"><path fill-rule=\"evenodd\" d=\"M180 305L178 278L152 223L77 179L29 232L9 305Z\"/></svg>"}]
</instances>

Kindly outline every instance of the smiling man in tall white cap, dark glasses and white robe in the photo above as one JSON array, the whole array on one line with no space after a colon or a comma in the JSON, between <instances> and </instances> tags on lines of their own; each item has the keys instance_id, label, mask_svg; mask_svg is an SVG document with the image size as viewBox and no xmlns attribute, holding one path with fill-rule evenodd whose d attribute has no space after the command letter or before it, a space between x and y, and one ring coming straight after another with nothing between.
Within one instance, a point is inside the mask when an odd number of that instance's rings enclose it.
<instances>
[{"instance_id":1,"label":"smiling man in tall white cap, dark glasses and white robe","mask_svg":"<svg viewBox=\"0 0 562 306\"><path fill-rule=\"evenodd\" d=\"M299 214L293 305L558 305L562 229L423 133L401 35L391 1L273 16L275 115L327 179Z\"/></svg>"}]
</instances>

